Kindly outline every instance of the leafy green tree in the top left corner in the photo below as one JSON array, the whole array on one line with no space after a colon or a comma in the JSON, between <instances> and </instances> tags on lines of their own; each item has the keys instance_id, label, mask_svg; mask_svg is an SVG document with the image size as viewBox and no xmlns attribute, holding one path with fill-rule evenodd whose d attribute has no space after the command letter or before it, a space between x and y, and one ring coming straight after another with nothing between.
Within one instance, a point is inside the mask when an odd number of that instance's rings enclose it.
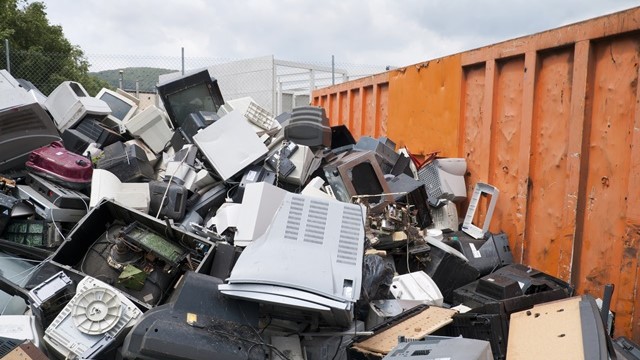
<instances>
[{"instance_id":1,"label":"leafy green tree in the top left corner","mask_svg":"<svg viewBox=\"0 0 640 360\"><path fill-rule=\"evenodd\" d=\"M80 82L91 95L110 87L89 75L84 52L67 40L61 26L49 23L42 2L0 0L0 39L9 40L11 74L31 81L44 94L66 80ZM2 55L0 67L6 68Z\"/></svg>"}]
</instances>

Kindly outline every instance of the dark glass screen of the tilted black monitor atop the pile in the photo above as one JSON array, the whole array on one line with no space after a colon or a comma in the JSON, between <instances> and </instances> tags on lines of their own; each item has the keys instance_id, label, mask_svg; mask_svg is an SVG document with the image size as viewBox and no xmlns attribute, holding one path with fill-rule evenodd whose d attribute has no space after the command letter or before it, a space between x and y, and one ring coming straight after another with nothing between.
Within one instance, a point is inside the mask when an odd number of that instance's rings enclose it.
<instances>
[{"instance_id":1,"label":"dark glass screen of the tilted black monitor atop the pile","mask_svg":"<svg viewBox=\"0 0 640 360\"><path fill-rule=\"evenodd\" d=\"M189 114L198 111L218 111L206 83L167 96L176 121L182 123Z\"/></svg>"}]
</instances>

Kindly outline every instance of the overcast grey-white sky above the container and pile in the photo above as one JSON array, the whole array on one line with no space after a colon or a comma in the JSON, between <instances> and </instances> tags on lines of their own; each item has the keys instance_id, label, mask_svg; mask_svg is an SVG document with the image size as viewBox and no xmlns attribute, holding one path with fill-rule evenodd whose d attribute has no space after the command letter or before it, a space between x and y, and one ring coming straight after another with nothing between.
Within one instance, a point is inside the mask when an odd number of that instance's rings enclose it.
<instances>
[{"instance_id":1,"label":"overcast grey-white sky above the container and pile","mask_svg":"<svg viewBox=\"0 0 640 360\"><path fill-rule=\"evenodd\" d=\"M638 0L44 0L86 54L403 66L640 5Z\"/></svg>"}]
</instances>

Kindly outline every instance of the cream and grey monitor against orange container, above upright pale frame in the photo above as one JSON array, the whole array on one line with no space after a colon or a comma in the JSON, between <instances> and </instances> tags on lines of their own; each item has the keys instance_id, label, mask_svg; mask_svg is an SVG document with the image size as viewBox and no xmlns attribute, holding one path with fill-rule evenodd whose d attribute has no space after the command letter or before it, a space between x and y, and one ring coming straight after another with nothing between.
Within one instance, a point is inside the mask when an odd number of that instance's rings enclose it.
<instances>
[{"instance_id":1,"label":"cream and grey monitor against orange container, above upright pale frame","mask_svg":"<svg viewBox=\"0 0 640 360\"><path fill-rule=\"evenodd\" d=\"M460 202L466 199L466 171L467 161L463 158L436 159L418 170L418 178L427 186L429 204L439 207L445 200Z\"/></svg>"}]
</instances>

